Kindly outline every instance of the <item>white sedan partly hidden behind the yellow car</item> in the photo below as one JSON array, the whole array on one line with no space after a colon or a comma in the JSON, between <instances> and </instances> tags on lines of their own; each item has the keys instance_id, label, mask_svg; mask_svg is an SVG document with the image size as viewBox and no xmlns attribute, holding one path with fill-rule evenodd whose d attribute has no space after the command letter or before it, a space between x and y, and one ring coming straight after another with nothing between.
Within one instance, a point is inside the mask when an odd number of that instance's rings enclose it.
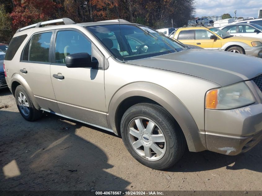
<instances>
[{"instance_id":1,"label":"white sedan partly hidden behind the yellow car","mask_svg":"<svg viewBox=\"0 0 262 196\"><path fill-rule=\"evenodd\" d=\"M219 29L234 36L262 38L262 27L258 24L230 24Z\"/></svg>"}]
</instances>

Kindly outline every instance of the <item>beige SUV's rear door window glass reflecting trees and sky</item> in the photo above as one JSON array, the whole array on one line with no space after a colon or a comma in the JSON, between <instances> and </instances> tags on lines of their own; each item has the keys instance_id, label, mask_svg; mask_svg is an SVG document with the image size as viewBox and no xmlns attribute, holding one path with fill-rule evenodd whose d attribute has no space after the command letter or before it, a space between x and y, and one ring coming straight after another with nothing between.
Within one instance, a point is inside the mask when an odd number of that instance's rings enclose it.
<instances>
[{"instance_id":1,"label":"beige SUV's rear door window glass reflecting trees and sky","mask_svg":"<svg viewBox=\"0 0 262 196\"><path fill-rule=\"evenodd\" d=\"M52 32L39 33L32 37L29 61L49 62L49 47Z\"/></svg>"}]
</instances>

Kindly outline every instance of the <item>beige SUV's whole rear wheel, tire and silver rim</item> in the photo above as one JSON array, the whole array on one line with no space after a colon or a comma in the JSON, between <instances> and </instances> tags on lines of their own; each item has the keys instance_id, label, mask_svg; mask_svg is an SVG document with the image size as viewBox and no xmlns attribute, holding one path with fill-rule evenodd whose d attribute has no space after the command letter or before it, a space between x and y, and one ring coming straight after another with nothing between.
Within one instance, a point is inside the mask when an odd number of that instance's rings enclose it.
<instances>
[{"instance_id":1,"label":"beige SUV's whole rear wheel, tire and silver rim","mask_svg":"<svg viewBox=\"0 0 262 196\"><path fill-rule=\"evenodd\" d=\"M18 110L25 120L34 121L42 116L43 112L34 107L29 94L22 85L16 87L15 98Z\"/></svg>"}]
</instances>

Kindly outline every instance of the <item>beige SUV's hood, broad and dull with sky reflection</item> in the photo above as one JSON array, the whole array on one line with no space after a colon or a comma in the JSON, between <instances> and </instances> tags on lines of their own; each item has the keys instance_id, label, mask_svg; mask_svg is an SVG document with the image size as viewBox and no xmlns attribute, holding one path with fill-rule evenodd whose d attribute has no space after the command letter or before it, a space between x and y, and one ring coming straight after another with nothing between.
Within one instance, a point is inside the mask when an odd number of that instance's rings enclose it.
<instances>
[{"instance_id":1,"label":"beige SUV's hood, broad and dull with sky reflection","mask_svg":"<svg viewBox=\"0 0 262 196\"><path fill-rule=\"evenodd\" d=\"M184 50L127 63L188 74L222 86L262 74L260 58L212 50Z\"/></svg>"}]
</instances>

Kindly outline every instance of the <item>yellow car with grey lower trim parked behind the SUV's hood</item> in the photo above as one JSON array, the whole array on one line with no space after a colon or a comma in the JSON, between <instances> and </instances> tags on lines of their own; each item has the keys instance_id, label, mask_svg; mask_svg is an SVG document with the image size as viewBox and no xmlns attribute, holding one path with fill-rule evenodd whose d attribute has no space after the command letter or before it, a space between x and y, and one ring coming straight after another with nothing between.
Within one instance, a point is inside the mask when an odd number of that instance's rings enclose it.
<instances>
[{"instance_id":1,"label":"yellow car with grey lower trim parked behind the SUV's hood","mask_svg":"<svg viewBox=\"0 0 262 196\"><path fill-rule=\"evenodd\" d=\"M222 50L262 58L262 39L237 37L212 26L183 27L176 30L174 39L184 44L210 50Z\"/></svg>"}]
</instances>

